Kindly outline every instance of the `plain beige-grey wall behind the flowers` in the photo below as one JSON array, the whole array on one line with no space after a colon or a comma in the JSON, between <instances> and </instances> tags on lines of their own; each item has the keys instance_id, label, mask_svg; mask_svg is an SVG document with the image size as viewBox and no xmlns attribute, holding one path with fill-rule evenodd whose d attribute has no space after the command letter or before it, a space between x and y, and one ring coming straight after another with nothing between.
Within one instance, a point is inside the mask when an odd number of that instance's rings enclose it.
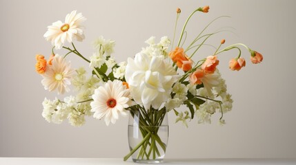
<instances>
[{"instance_id":1,"label":"plain beige-grey wall behind the flowers","mask_svg":"<svg viewBox=\"0 0 296 165\"><path fill-rule=\"evenodd\" d=\"M51 124L41 116L45 97L53 99L34 71L35 54L50 55L51 45L43 34L46 27L64 20L72 10L88 20L86 39L76 43L85 56L92 54L92 41L102 35L115 40L115 58L125 61L146 46L150 36L172 38L175 10L181 8L178 32L186 17L199 6L210 5L208 14L198 13L188 24L188 41L206 23L221 15L208 30L230 26L235 34L219 34L209 42L217 45L243 42L264 55L252 65L248 52L246 67L228 69L232 51L221 54L219 69L233 94L233 111L227 124L197 124L186 129L171 113L170 139L166 157L296 157L296 1L0 1L0 156L1 157L123 157L128 153L127 120L106 126L87 118L76 128L67 122ZM178 35L179 36L179 35ZM208 56L204 49L197 56ZM88 65L76 56L73 65ZM64 95L64 96L67 96ZM63 98L64 96L59 96Z\"/></svg>"}]
</instances>

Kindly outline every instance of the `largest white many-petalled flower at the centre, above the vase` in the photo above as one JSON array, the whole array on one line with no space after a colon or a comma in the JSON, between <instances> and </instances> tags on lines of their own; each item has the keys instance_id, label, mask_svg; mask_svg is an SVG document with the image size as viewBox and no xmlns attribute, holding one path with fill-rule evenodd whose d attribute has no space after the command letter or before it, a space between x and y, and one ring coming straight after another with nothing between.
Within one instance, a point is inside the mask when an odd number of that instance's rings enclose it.
<instances>
[{"instance_id":1,"label":"largest white many-petalled flower at the centre, above the vase","mask_svg":"<svg viewBox=\"0 0 296 165\"><path fill-rule=\"evenodd\" d=\"M146 109L158 109L170 98L172 84L177 81L177 72L172 65L164 61L164 56L136 54L135 59L128 58L126 65L126 82L130 87L132 98Z\"/></svg>"}]
</instances>

